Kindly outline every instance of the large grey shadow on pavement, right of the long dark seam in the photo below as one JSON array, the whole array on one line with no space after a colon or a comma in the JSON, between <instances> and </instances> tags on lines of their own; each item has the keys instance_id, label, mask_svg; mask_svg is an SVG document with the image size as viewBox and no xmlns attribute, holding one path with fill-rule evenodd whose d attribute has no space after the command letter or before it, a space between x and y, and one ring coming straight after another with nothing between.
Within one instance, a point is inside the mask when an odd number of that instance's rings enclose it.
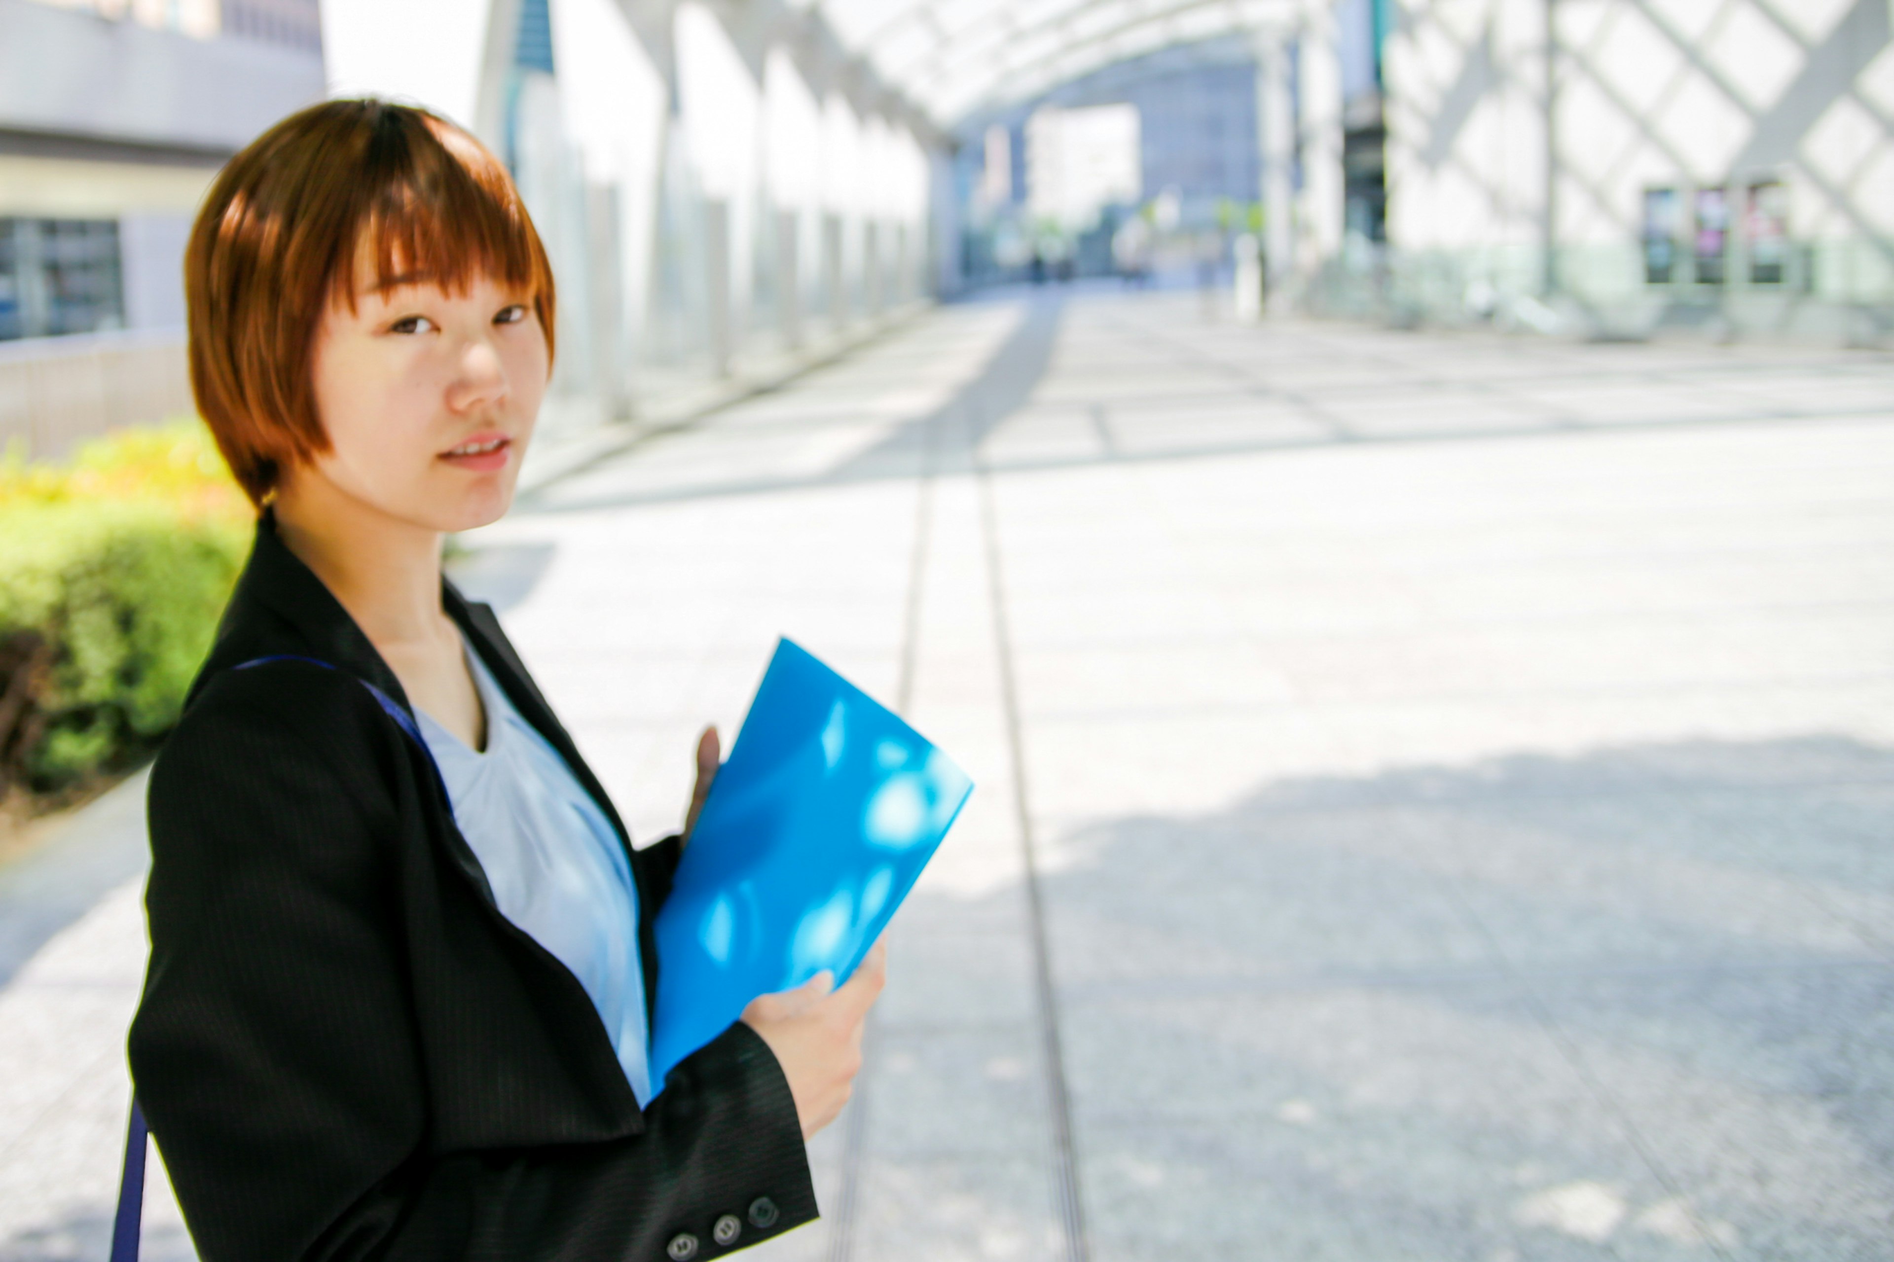
<instances>
[{"instance_id":1,"label":"large grey shadow on pavement, right of the long dark seam","mask_svg":"<svg viewBox=\"0 0 1894 1262\"><path fill-rule=\"evenodd\" d=\"M1894 750L1820 735L1051 838L1093 1256L1885 1256L1890 839ZM902 970L979 961L979 913L917 896Z\"/></svg>"}]
</instances>

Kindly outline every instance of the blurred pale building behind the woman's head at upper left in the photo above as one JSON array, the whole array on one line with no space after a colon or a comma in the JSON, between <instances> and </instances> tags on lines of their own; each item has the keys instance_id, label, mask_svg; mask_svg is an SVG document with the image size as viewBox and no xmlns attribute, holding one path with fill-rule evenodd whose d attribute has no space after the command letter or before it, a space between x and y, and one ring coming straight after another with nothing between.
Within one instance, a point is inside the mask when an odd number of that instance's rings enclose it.
<instances>
[{"instance_id":1,"label":"blurred pale building behind the woman's head at upper left","mask_svg":"<svg viewBox=\"0 0 1894 1262\"><path fill-rule=\"evenodd\" d=\"M184 324L210 176L322 97L314 0L0 0L0 341Z\"/></svg>"}]
</instances>

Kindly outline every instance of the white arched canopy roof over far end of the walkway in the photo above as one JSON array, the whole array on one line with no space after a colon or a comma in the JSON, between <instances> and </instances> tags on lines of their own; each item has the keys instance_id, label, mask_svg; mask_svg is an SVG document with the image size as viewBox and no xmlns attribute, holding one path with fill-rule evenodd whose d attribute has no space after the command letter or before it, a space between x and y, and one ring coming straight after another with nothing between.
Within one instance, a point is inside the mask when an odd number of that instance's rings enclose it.
<instances>
[{"instance_id":1,"label":"white arched canopy roof over far end of the walkway","mask_svg":"<svg viewBox=\"0 0 1894 1262\"><path fill-rule=\"evenodd\" d=\"M1256 30L1301 0L816 0L841 44L938 125L1131 57Z\"/></svg>"}]
</instances>

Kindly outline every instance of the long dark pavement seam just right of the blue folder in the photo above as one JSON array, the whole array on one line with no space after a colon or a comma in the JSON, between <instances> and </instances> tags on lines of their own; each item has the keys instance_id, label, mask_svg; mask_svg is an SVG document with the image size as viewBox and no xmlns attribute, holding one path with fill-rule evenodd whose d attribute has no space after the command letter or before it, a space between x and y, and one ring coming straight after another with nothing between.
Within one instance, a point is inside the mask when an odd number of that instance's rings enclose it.
<instances>
[{"instance_id":1,"label":"long dark pavement seam just right of the blue folder","mask_svg":"<svg viewBox=\"0 0 1894 1262\"><path fill-rule=\"evenodd\" d=\"M1089 1262L1091 1245L1085 1234L1085 1211L1080 1198L1078 1152L1072 1141L1072 1097L1064 1073L1064 1050L1059 1031L1059 995L1053 987L1051 953L1045 938L1045 900L1040 889L1038 855L1034 847L1032 809L1028 805L1027 760L1019 726L1019 694L1013 680L1011 629L1006 618L1006 582L1000 570L1000 527L994 506L992 478L979 447L972 451L974 474L979 485L981 534L987 553L987 587L992 604L992 633L1000 665L1000 703L1006 716L1006 745L1013 771L1013 811L1019 826L1019 845L1027 870L1027 913L1032 928L1034 989L1040 1008L1040 1042L1045 1057L1045 1095L1053 1124L1053 1182L1059 1224L1064 1232L1066 1262Z\"/></svg>"}]
</instances>

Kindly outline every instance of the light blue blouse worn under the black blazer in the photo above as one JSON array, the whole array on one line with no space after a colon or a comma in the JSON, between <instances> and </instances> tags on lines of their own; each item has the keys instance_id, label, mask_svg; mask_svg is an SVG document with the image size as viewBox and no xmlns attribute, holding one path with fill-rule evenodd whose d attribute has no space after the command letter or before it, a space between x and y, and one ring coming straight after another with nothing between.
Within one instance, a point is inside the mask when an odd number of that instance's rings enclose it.
<instances>
[{"instance_id":1,"label":"light blue blouse worn under the black blazer","mask_svg":"<svg viewBox=\"0 0 1894 1262\"><path fill-rule=\"evenodd\" d=\"M519 716L479 654L468 650L468 667L487 711L485 752L417 709L420 737L500 913L591 995L642 1109L652 1099L652 1069L631 860L604 811Z\"/></svg>"}]
</instances>

